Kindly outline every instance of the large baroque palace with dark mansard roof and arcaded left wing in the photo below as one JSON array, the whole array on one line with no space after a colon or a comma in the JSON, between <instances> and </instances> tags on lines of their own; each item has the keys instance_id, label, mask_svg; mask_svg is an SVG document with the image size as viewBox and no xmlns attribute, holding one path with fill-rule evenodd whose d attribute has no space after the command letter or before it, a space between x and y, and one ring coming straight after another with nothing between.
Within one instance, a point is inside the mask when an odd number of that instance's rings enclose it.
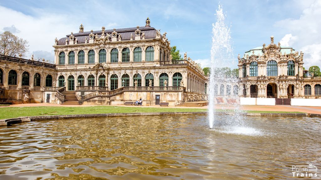
<instances>
[{"instance_id":1,"label":"large baroque palace with dark mansard roof and arcaded left wing","mask_svg":"<svg viewBox=\"0 0 321 180\"><path fill-rule=\"evenodd\" d=\"M166 32L152 28L149 18L144 27L79 29L55 39L54 64L2 55L2 99L111 105L140 98L146 105L206 99L208 78L201 67L187 53L173 61Z\"/></svg>"}]
</instances>

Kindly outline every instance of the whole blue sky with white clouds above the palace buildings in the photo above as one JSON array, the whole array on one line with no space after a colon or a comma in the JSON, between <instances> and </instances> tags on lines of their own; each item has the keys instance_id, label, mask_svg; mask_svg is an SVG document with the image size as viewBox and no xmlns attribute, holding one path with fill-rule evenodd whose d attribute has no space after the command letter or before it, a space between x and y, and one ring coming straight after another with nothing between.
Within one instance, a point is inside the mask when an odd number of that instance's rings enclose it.
<instances>
[{"instance_id":1,"label":"whole blue sky with white clouds above the palace buildings","mask_svg":"<svg viewBox=\"0 0 321 180\"><path fill-rule=\"evenodd\" d=\"M243 1L36 1L0 0L0 33L9 30L29 42L35 58L54 60L54 39L84 31L145 26L161 29L171 45L192 60L209 67L212 24L223 5L230 26L233 54L226 66L237 68L237 55L263 43L291 46L304 53L304 67L321 67L321 0ZM5 17L5 18L3 18Z\"/></svg>"}]
</instances>

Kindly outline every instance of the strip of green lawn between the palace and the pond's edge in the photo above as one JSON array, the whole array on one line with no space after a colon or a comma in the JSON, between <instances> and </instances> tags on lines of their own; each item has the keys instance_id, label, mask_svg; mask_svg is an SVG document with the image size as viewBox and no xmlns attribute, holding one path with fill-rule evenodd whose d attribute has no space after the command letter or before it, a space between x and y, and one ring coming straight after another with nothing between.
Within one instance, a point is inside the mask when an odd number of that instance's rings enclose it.
<instances>
[{"instance_id":1,"label":"strip of green lawn between the palace and the pond's edge","mask_svg":"<svg viewBox=\"0 0 321 180\"><path fill-rule=\"evenodd\" d=\"M196 108L146 108L121 106L87 106L87 107L3 107L0 108L0 119L16 118L20 116L44 116L67 114L100 114L100 113L130 113L130 112L204 112L207 109ZM217 110L222 111L222 110ZM232 110L227 110L232 111ZM246 111L251 113L300 113L284 111Z\"/></svg>"}]
</instances>

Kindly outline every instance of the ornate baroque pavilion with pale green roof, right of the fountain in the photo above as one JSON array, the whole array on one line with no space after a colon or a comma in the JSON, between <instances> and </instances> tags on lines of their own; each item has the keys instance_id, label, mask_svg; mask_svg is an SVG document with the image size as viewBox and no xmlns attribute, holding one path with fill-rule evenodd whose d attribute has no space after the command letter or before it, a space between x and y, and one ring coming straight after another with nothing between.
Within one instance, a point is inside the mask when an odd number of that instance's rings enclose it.
<instances>
[{"instance_id":1,"label":"ornate baroque pavilion with pale green roof, right of the fountain","mask_svg":"<svg viewBox=\"0 0 321 180\"><path fill-rule=\"evenodd\" d=\"M239 60L242 96L255 98L321 98L321 77L303 76L303 53L271 44L245 52Z\"/></svg>"}]
</instances>

